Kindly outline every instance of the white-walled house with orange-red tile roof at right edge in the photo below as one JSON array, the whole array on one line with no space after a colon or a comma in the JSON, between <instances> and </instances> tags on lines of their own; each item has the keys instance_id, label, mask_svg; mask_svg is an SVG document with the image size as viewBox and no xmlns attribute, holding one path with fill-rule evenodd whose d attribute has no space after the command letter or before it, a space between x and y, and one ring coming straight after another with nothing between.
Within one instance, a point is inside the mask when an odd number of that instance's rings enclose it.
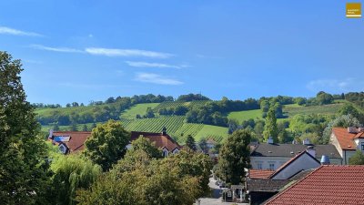
<instances>
[{"instance_id":1,"label":"white-walled house with orange-red tile roof at right edge","mask_svg":"<svg viewBox=\"0 0 364 205\"><path fill-rule=\"evenodd\" d=\"M338 149L343 164L349 164L357 150L364 151L364 128L332 128L330 143Z\"/></svg>"}]
</instances>

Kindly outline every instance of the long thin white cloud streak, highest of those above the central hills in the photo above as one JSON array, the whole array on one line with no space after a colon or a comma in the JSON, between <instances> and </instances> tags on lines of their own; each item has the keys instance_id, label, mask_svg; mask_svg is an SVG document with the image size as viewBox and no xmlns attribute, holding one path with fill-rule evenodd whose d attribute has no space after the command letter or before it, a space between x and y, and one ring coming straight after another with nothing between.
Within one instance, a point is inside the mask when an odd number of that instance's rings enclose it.
<instances>
[{"instance_id":1,"label":"long thin white cloud streak, highest of those above the central hills","mask_svg":"<svg viewBox=\"0 0 364 205\"><path fill-rule=\"evenodd\" d=\"M137 49L114 49L103 47L87 47L86 53L99 56L145 56L154 58L168 58L172 54L159 53L155 51L137 50Z\"/></svg>"}]
</instances>

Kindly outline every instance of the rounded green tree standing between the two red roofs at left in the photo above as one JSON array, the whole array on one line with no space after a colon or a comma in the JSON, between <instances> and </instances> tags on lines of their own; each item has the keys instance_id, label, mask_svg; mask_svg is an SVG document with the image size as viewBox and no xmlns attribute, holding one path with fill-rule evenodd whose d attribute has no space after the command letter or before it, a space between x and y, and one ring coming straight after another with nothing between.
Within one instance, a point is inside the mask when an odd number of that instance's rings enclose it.
<instances>
[{"instance_id":1,"label":"rounded green tree standing between the two red roofs at left","mask_svg":"<svg viewBox=\"0 0 364 205\"><path fill-rule=\"evenodd\" d=\"M103 125L97 125L91 137L85 142L85 155L106 171L126 153L130 133L120 122L110 119Z\"/></svg>"}]
</instances>

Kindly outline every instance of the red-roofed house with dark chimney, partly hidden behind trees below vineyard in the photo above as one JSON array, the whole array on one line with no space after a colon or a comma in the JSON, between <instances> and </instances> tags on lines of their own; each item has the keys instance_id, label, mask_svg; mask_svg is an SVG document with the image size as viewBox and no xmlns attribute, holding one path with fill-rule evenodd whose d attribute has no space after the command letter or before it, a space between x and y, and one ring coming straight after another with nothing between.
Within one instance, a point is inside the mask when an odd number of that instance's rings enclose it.
<instances>
[{"instance_id":1,"label":"red-roofed house with dark chimney, partly hidden behind trees below vineyard","mask_svg":"<svg viewBox=\"0 0 364 205\"><path fill-rule=\"evenodd\" d=\"M157 148L162 149L164 157L167 157L170 154L176 154L182 149L182 147L177 143L177 141L167 135L166 130L166 128L163 128L161 133L132 131L130 144L127 145L126 148L130 149L131 141L142 136L144 138L149 138L151 142L156 144Z\"/></svg>"}]
</instances>

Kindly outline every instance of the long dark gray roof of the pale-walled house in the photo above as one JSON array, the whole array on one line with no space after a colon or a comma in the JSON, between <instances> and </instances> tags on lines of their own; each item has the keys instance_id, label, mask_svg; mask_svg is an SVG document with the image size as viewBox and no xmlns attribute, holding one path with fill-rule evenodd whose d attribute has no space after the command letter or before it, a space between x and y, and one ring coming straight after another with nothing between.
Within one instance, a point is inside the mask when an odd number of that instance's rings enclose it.
<instances>
[{"instance_id":1,"label":"long dark gray roof of the pale-walled house","mask_svg":"<svg viewBox=\"0 0 364 205\"><path fill-rule=\"evenodd\" d=\"M338 150L333 145L300 145L300 144L258 144L251 150L251 157L282 157L293 158L302 151L312 146L316 150L316 158L321 159L322 155L330 159L341 159Z\"/></svg>"}]
</instances>

